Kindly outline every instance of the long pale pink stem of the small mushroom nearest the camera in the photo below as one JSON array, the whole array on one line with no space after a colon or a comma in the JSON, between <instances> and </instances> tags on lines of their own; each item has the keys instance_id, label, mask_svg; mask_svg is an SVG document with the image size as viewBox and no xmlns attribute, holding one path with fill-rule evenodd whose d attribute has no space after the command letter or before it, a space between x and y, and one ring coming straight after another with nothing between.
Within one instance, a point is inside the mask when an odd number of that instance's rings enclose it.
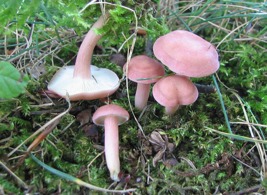
<instances>
[{"instance_id":1,"label":"long pale pink stem of the small mushroom nearest the camera","mask_svg":"<svg viewBox=\"0 0 267 195\"><path fill-rule=\"evenodd\" d=\"M120 173L119 159L119 128L117 116L106 116L105 125L105 156L110 177L114 181L120 181L118 174Z\"/></svg>"}]
</instances>

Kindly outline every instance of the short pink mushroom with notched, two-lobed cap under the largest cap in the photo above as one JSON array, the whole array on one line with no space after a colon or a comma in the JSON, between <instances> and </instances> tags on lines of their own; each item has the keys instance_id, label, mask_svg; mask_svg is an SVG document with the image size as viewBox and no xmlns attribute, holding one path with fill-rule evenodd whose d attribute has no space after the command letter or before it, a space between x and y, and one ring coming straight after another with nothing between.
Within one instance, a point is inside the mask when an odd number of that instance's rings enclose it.
<instances>
[{"instance_id":1,"label":"short pink mushroom with notched, two-lobed cap under the largest cap","mask_svg":"<svg viewBox=\"0 0 267 195\"><path fill-rule=\"evenodd\" d=\"M155 100L165 106L165 114L173 114L179 105L189 105L198 98L196 86L179 75L162 77L152 89Z\"/></svg>"}]
</instances>

